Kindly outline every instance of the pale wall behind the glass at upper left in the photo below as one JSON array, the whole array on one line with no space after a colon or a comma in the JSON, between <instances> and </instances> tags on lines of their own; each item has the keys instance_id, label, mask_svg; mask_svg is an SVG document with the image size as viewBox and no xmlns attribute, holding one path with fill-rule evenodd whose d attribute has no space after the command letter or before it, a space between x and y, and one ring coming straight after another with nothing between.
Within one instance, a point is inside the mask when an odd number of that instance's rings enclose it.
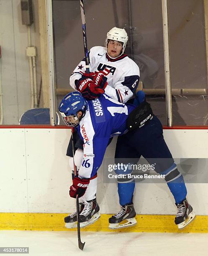
<instances>
[{"instance_id":1,"label":"pale wall behind the glass at upper left","mask_svg":"<svg viewBox=\"0 0 208 256\"><path fill-rule=\"evenodd\" d=\"M31 26L31 43L39 49L38 13L35 11L37 1L33 2L35 25ZM18 124L20 116L31 105L29 62L26 56L28 29L22 25L20 0L0 0L0 46L3 124ZM38 58L37 75L39 85L41 74Z\"/></svg>"}]
</instances>

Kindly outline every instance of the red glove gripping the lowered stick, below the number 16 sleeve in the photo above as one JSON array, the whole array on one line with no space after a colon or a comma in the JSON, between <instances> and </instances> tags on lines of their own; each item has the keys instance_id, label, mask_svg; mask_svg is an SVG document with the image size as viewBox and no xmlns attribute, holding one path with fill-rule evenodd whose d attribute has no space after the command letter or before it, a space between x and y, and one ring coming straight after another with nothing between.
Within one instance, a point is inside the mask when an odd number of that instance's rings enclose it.
<instances>
[{"instance_id":1,"label":"red glove gripping the lowered stick, below the number 16 sleeve","mask_svg":"<svg viewBox=\"0 0 208 256\"><path fill-rule=\"evenodd\" d=\"M78 195L78 197L82 197L86 192L88 185L89 179L80 179L79 177L75 176L73 179L73 184L69 190L70 197L76 198L76 195Z\"/></svg>"}]
</instances>

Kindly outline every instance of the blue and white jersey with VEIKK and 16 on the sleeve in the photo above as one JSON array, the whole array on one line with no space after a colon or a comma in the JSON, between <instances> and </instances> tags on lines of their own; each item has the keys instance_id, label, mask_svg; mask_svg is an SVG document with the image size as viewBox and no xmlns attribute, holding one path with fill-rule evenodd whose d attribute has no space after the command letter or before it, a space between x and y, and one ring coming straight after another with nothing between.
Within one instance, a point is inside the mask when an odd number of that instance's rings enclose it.
<instances>
[{"instance_id":1,"label":"blue and white jersey with VEIKK and 16 on the sleeve","mask_svg":"<svg viewBox=\"0 0 208 256\"><path fill-rule=\"evenodd\" d=\"M134 105L119 103L107 95L88 101L89 108L76 128L84 141L79 177L93 177L101 166L109 138L127 132L126 120Z\"/></svg>"}]
</instances>

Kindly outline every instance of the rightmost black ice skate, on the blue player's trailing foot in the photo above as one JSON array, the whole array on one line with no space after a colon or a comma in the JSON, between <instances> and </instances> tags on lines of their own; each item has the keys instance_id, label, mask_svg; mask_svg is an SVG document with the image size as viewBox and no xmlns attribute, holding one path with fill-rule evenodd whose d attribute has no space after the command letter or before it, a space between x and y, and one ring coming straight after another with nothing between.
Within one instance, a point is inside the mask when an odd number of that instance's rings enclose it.
<instances>
[{"instance_id":1,"label":"rightmost black ice skate, on the blue player's trailing foot","mask_svg":"<svg viewBox=\"0 0 208 256\"><path fill-rule=\"evenodd\" d=\"M178 207L178 213L175 216L175 224L178 225L178 228L185 228L195 217L193 213L193 208L188 203L188 201L183 200L180 204L176 205Z\"/></svg>"}]
</instances>

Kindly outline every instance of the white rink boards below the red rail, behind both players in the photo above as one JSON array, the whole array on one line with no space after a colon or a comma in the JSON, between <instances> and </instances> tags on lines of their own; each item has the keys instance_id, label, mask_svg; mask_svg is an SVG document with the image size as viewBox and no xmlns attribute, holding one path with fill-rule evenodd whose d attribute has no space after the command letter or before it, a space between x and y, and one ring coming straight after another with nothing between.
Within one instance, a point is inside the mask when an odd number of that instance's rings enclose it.
<instances>
[{"instance_id":1,"label":"white rink boards below the red rail, behind both players","mask_svg":"<svg viewBox=\"0 0 208 256\"><path fill-rule=\"evenodd\" d=\"M71 171L66 148L70 129L0 129L0 212L71 212ZM208 130L164 130L174 158L208 158ZM105 158L114 156L116 138ZM97 200L101 213L119 210L117 185L103 184L99 169ZM208 184L187 184L196 214L208 215ZM138 183L134 205L141 214L175 214L166 184Z\"/></svg>"}]
</instances>

